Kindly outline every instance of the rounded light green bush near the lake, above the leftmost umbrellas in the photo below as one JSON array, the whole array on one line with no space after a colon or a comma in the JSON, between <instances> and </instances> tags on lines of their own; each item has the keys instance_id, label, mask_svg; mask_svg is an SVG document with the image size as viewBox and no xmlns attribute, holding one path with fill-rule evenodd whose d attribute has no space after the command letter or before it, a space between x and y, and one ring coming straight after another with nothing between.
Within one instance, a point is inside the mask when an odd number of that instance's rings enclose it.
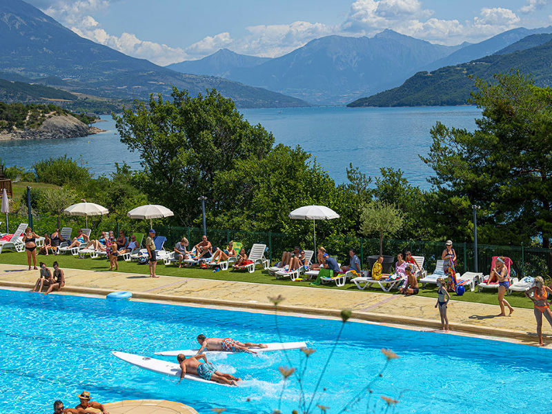
<instances>
[{"instance_id":1,"label":"rounded light green bush near the lake, above the leftmost umbrellas","mask_svg":"<svg viewBox=\"0 0 552 414\"><path fill-rule=\"evenodd\" d=\"M57 186L79 185L91 177L88 168L79 166L77 161L68 158L67 155L43 159L34 163L33 168L37 174L37 181Z\"/></svg>"}]
</instances>

